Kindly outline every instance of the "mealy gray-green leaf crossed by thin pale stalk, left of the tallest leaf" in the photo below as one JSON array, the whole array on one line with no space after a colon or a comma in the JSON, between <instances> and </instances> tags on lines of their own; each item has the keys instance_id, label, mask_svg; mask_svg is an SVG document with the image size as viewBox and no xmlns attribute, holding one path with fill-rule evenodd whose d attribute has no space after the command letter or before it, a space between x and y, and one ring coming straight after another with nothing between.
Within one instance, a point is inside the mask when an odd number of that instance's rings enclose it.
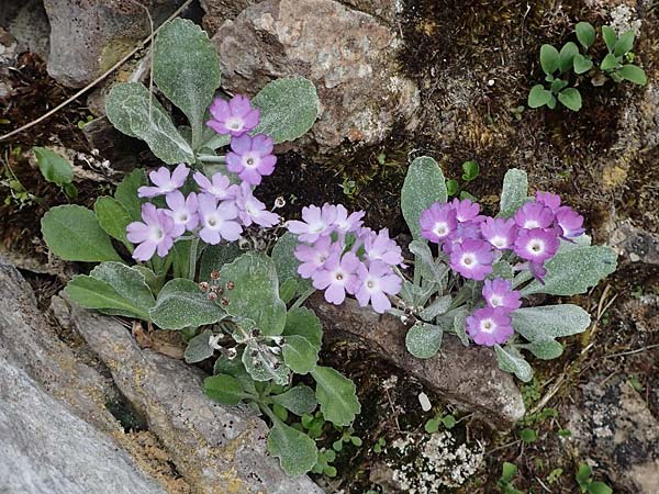
<instances>
[{"instance_id":1,"label":"mealy gray-green leaf crossed by thin pale stalk, left of the tallest leaf","mask_svg":"<svg viewBox=\"0 0 659 494\"><path fill-rule=\"evenodd\" d=\"M108 94L105 111L118 130L145 141L154 155L166 164L194 162L188 142L156 98L141 83L114 86Z\"/></svg>"}]
</instances>

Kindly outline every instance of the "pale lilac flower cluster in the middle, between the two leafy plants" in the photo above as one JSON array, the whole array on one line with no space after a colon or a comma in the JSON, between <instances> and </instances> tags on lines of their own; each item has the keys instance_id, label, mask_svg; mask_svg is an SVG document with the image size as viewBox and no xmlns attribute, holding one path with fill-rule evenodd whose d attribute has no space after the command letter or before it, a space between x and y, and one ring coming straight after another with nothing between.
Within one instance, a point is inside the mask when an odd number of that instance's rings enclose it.
<instances>
[{"instance_id":1,"label":"pale lilac flower cluster in the middle, between the two leafy plants","mask_svg":"<svg viewBox=\"0 0 659 494\"><path fill-rule=\"evenodd\" d=\"M387 295L401 290L394 266L402 266L401 248L380 232L362 226L365 212L348 214L342 204L311 205L302 209L302 221L290 221L289 232L298 235L294 252L301 262L298 272L311 279L325 300L340 304L346 293L355 295L362 307L369 303L380 314L391 308Z\"/></svg>"}]
</instances>

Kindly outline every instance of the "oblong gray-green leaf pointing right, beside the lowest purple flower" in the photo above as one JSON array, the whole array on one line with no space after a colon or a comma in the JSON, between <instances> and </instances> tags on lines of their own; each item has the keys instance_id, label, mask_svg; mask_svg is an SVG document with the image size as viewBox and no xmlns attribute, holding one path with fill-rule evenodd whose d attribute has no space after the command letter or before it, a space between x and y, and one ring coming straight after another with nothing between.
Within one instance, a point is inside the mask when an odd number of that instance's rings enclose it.
<instances>
[{"instance_id":1,"label":"oblong gray-green leaf pointing right, beside the lowest purple flower","mask_svg":"<svg viewBox=\"0 0 659 494\"><path fill-rule=\"evenodd\" d=\"M544 341L583 333L590 315L578 305L543 305L517 308L512 314L513 328L529 341Z\"/></svg>"}]
</instances>

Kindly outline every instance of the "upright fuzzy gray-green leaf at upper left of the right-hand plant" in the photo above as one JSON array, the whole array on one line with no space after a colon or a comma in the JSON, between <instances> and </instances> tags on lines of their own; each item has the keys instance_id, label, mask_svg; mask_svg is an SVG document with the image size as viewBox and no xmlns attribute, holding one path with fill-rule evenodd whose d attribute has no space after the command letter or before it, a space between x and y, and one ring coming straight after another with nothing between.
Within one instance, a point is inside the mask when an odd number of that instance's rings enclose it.
<instances>
[{"instance_id":1,"label":"upright fuzzy gray-green leaf at upper left of the right-hand plant","mask_svg":"<svg viewBox=\"0 0 659 494\"><path fill-rule=\"evenodd\" d=\"M434 202L443 203L446 199L446 182L437 161L428 156L412 161L401 191L401 209L415 239L421 238L421 213Z\"/></svg>"}]
</instances>

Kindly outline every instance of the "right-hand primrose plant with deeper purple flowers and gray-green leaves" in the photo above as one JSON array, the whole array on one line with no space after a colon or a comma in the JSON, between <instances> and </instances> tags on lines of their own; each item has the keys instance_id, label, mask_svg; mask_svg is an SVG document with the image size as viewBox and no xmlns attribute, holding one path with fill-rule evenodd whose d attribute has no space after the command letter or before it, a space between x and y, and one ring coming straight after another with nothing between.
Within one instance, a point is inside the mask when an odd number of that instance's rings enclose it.
<instances>
[{"instance_id":1,"label":"right-hand primrose plant with deeper purple flowers and gray-green leaves","mask_svg":"<svg viewBox=\"0 0 659 494\"><path fill-rule=\"evenodd\" d=\"M411 353L433 357L449 333L466 346L493 347L501 369L529 381L533 369L521 350L556 358L562 352L556 338L587 329L590 316L577 305L527 306L526 300L584 293L615 270L616 255L590 245L583 217L558 195L528 198L527 188L524 171L509 170L499 214L489 217L470 200L446 202L434 159L412 162L401 205L414 269L390 311L411 324Z\"/></svg>"}]
</instances>

